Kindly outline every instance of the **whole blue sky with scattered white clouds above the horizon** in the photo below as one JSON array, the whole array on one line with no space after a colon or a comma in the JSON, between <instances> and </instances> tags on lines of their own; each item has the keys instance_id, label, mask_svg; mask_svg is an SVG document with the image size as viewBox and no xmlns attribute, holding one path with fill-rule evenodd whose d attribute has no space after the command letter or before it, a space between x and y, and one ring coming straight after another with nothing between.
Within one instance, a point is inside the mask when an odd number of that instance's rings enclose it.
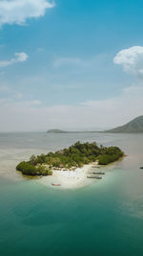
<instances>
[{"instance_id":1,"label":"whole blue sky with scattered white clouds above the horizon","mask_svg":"<svg viewBox=\"0 0 143 256\"><path fill-rule=\"evenodd\" d=\"M0 0L0 131L143 115L141 0Z\"/></svg>"}]
</instances>

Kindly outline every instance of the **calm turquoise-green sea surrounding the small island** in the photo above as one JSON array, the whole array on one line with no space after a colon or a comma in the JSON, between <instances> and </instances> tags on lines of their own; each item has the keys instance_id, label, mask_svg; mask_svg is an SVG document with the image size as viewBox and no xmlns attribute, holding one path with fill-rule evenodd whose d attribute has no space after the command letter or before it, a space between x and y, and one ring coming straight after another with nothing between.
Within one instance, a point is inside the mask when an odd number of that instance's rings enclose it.
<instances>
[{"instance_id":1,"label":"calm turquoise-green sea surrounding the small island","mask_svg":"<svg viewBox=\"0 0 143 256\"><path fill-rule=\"evenodd\" d=\"M76 190L50 189L15 173L14 164L32 151L77 139L117 145L130 156ZM142 135L28 133L0 140L0 255L143 255Z\"/></svg>"}]
</instances>

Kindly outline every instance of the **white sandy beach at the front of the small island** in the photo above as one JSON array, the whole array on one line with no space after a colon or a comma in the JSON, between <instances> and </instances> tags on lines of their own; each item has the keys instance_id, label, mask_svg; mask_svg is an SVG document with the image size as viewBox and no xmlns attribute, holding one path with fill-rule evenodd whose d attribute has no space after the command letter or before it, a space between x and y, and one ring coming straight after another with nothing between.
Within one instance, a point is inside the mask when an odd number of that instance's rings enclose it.
<instances>
[{"instance_id":1,"label":"white sandy beach at the front of the small island","mask_svg":"<svg viewBox=\"0 0 143 256\"><path fill-rule=\"evenodd\" d=\"M75 171L54 171L51 176L44 176L39 181L40 183L51 187L52 183L61 184L60 188L73 189L84 187L92 183L91 178L87 175L92 171L92 167L97 167L96 163L84 165L82 168L77 168ZM52 186L53 187L53 186Z\"/></svg>"}]
</instances>

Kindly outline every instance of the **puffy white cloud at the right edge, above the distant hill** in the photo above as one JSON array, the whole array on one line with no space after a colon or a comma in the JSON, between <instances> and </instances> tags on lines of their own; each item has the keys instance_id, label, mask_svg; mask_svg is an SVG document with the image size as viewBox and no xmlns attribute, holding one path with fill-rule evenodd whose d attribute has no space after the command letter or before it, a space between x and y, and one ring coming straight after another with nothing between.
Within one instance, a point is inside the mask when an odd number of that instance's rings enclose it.
<instances>
[{"instance_id":1,"label":"puffy white cloud at the right edge, above the distant hill","mask_svg":"<svg viewBox=\"0 0 143 256\"><path fill-rule=\"evenodd\" d=\"M115 58L115 64L123 66L125 72L133 75L143 75L143 47L133 46L120 51Z\"/></svg>"}]
</instances>

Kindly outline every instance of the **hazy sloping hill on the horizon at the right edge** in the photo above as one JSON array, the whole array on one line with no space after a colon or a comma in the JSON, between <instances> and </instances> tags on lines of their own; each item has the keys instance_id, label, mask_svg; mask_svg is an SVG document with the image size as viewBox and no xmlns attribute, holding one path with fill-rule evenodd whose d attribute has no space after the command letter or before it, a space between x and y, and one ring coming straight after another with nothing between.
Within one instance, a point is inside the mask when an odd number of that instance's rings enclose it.
<instances>
[{"instance_id":1,"label":"hazy sloping hill on the horizon at the right edge","mask_svg":"<svg viewBox=\"0 0 143 256\"><path fill-rule=\"evenodd\" d=\"M143 116L136 117L131 122L129 122L128 124L126 124L122 127L105 130L105 132L110 132L110 133L139 133L139 132L143 132Z\"/></svg>"}]
</instances>

